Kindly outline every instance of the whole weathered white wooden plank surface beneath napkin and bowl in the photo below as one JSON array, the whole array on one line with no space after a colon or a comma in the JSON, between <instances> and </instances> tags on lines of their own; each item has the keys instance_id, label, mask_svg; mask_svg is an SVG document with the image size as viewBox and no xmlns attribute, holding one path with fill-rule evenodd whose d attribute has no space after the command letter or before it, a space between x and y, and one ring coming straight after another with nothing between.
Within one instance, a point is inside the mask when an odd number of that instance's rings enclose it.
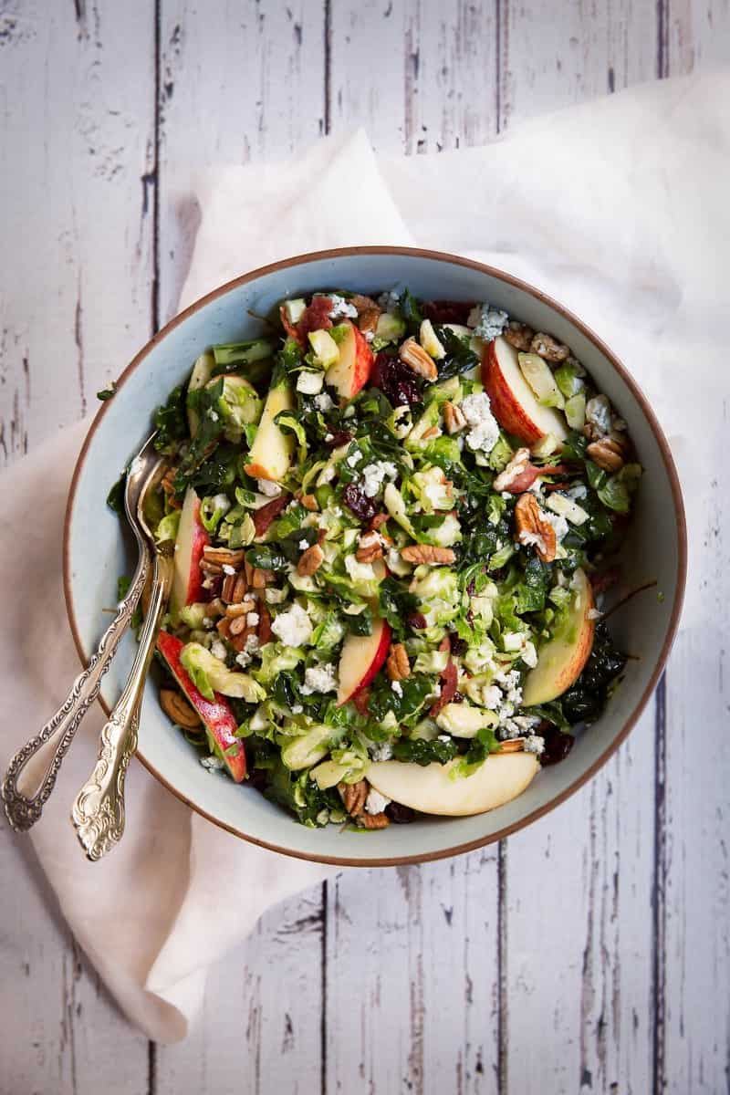
<instances>
[{"instance_id":1,"label":"whole weathered white wooden plank surface beneath napkin and bowl","mask_svg":"<svg viewBox=\"0 0 730 1095\"><path fill-rule=\"evenodd\" d=\"M728 60L728 0L0 0L0 457L171 314L201 163L359 124L456 148ZM708 619L727 541L708 517ZM499 848L271 910L179 1046L120 1018L3 828L0 1095L726 1091L725 669L719 631L685 636L612 763Z\"/></svg>"}]
</instances>

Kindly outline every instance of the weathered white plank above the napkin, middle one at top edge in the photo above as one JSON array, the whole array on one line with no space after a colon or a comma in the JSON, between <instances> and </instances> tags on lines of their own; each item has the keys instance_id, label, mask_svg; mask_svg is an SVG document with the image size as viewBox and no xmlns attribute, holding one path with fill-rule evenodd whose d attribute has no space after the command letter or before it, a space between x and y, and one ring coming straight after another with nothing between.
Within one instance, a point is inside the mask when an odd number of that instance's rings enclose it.
<instances>
[{"instance_id":1,"label":"weathered white plank above the napkin, middle one at top edge","mask_svg":"<svg viewBox=\"0 0 730 1095\"><path fill-rule=\"evenodd\" d=\"M386 152L478 145L497 131L489 0L332 4L332 128L364 126Z\"/></svg>"}]
</instances>

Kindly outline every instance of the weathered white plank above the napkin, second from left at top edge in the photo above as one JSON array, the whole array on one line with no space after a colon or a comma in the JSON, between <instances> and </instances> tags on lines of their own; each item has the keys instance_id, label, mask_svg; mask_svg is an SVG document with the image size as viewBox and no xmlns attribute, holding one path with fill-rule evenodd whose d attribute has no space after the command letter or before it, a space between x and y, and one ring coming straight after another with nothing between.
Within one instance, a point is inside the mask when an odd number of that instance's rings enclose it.
<instances>
[{"instance_id":1,"label":"weathered white plank above the napkin, second from left at top edge","mask_svg":"<svg viewBox=\"0 0 730 1095\"><path fill-rule=\"evenodd\" d=\"M324 11L305 0L161 0L160 39L164 322L175 311L189 258L196 173L208 164L283 159L324 132ZM241 270L255 265L241 256Z\"/></svg>"}]
</instances>

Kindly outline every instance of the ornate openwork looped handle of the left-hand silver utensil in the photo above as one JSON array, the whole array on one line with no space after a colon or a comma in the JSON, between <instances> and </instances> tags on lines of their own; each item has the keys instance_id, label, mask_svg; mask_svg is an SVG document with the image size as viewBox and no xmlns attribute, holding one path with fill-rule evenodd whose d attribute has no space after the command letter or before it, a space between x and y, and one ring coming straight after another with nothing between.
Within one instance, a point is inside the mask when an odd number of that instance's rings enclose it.
<instances>
[{"instance_id":1,"label":"ornate openwork looped handle of the left-hand silver utensil","mask_svg":"<svg viewBox=\"0 0 730 1095\"><path fill-rule=\"evenodd\" d=\"M129 627L137 602L139 601L150 572L151 554L147 545L140 544L139 561L135 577L120 601L117 614L104 632L96 653L89 665L74 680L71 691L36 737L31 738L10 762L2 781L2 798L5 815L11 827L16 832L30 829L40 817L43 807L54 789L61 761L68 752L79 724L99 694L104 673L112 664L119 639ZM25 791L19 788L26 764L46 747L54 747L54 752L39 782L35 783L30 773L25 773ZM36 776L37 780L37 776Z\"/></svg>"}]
</instances>

